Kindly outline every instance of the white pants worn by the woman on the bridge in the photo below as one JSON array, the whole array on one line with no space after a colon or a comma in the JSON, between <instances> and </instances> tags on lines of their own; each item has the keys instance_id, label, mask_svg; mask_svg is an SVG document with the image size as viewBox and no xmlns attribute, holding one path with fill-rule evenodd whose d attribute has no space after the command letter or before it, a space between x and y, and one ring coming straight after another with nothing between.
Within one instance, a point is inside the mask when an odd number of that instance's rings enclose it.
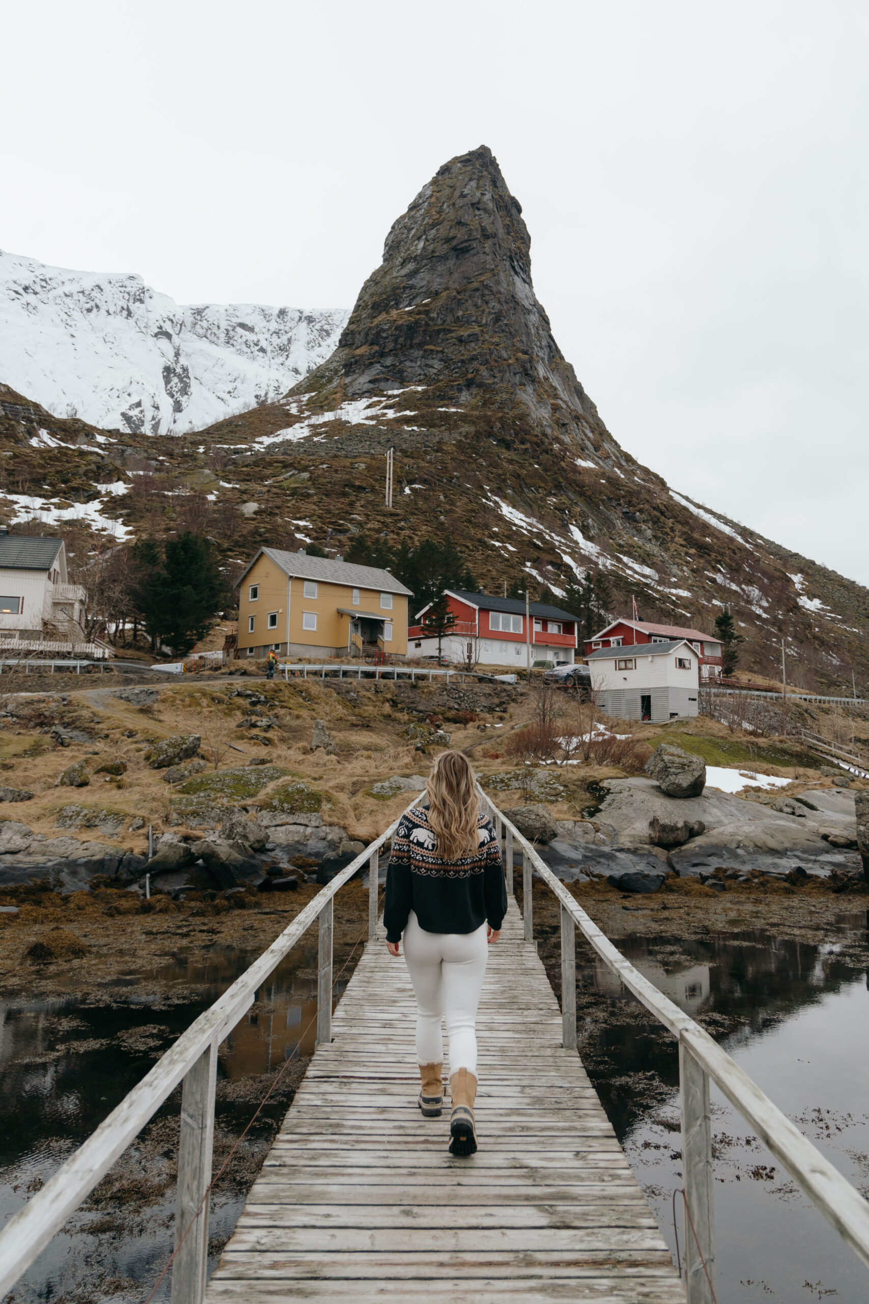
<instances>
[{"instance_id":1,"label":"white pants worn by the woman on the bridge","mask_svg":"<svg viewBox=\"0 0 869 1304\"><path fill-rule=\"evenodd\" d=\"M486 973L486 925L476 932L426 932L410 911L404 958L417 998L417 1063L443 1063L440 1021L449 1038L449 1076L477 1076L477 1005Z\"/></svg>"}]
</instances>

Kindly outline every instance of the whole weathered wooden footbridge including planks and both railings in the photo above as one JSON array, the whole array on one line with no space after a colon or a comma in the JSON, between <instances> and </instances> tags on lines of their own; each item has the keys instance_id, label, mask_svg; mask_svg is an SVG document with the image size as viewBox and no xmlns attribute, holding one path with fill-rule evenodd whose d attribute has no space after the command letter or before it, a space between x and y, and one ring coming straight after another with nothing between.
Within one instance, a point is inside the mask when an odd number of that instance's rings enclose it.
<instances>
[{"instance_id":1,"label":"whole weathered wooden footbridge including planks and both railings","mask_svg":"<svg viewBox=\"0 0 869 1304\"><path fill-rule=\"evenodd\" d=\"M410 983L404 961L388 956L378 925L379 852L392 824L305 906L9 1221L0 1234L0 1297L178 1082L172 1304L369 1304L416 1301L421 1292L442 1304L715 1304L710 1078L869 1266L866 1201L692 1018L633 969L517 829L482 799L506 833L511 904L503 936L490 952L479 1009L477 1154L451 1157L448 1112L422 1119L416 1107ZM517 846L521 918L512 900ZM366 861L369 945L334 1012L334 900ZM533 875L560 902L562 1011L533 943ZM218 1047L315 922L317 1052L207 1282ZM679 1041L684 1281L576 1051L577 927Z\"/></svg>"}]
</instances>

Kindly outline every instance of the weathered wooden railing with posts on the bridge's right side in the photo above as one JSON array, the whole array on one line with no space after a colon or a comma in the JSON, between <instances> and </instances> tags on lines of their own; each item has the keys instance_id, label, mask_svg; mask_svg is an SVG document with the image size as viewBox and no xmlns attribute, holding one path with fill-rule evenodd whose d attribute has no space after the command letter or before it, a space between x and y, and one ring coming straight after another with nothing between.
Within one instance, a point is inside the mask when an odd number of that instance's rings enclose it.
<instances>
[{"instance_id":1,"label":"weathered wooden railing with posts on the bridge's right side","mask_svg":"<svg viewBox=\"0 0 869 1304\"><path fill-rule=\"evenodd\" d=\"M576 928L621 979L628 991L679 1041L681 1097L681 1158L684 1198L693 1232L685 1232L688 1304L714 1304L714 1201L710 1080L739 1110L775 1158L833 1223L844 1241L869 1266L869 1204L810 1141L761 1091L756 1082L698 1024L649 982L605 936L564 884L555 878L532 844L481 789L481 797L500 837L506 832L507 891L513 892L516 845L522 852L522 915L525 940L533 940L532 883L537 875L555 895L562 913L563 1045L576 1038Z\"/></svg>"}]
</instances>

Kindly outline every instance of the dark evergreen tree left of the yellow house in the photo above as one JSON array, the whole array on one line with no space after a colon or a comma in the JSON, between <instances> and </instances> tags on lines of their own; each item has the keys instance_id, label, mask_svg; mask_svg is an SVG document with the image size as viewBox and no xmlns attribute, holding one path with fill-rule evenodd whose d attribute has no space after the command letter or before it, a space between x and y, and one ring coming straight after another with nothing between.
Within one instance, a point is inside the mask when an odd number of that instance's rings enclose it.
<instances>
[{"instance_id":1,"label":"dark evergreen tree left of the yellow house","mask_svg":"<svg viewBox=\"0 0 869 1304\"><path fill-rule=\"evenodd\" d=\"M152 642L165 642L184 656L205 638L227 600L214 550L202 535L188 532L167 542L162 561L147 541L141 553L146 557L151 566L142 571L137 593L145 627Z\"/></svg>"}]
</instances>

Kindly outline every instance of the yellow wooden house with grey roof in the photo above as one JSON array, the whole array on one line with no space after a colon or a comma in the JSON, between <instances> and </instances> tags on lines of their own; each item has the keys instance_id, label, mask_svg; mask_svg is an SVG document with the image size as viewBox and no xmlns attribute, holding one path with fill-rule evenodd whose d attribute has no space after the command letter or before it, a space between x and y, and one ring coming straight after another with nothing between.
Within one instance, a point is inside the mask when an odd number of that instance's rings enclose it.
<instances>
[{"instance_id":1,"label":"yellow wooden house with grey roof","mask_svg":"<svg viewBox=\"0 0 869 1304\"><path fill-rule=\"evenodd\" d=\"M375 566L261 548L237 582L238 655L408 655L409 588Z\"/></svg>"}]
</instances>

